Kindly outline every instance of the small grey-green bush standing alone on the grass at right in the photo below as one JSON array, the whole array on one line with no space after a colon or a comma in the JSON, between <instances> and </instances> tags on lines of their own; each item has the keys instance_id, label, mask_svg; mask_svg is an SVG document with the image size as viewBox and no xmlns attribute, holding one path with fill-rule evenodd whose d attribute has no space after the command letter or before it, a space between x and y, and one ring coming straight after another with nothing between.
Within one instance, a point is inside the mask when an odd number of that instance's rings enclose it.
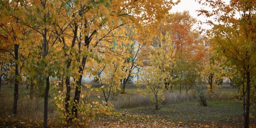
<instances>
[{"instance_id":1,"label":"small grey-green bush standing alone on the grass at right","mask_svg":"<svg viewBox=\"0 0 256 128\"><path fill-rule=\"evenodd\" d=\"M207 106L208 97L206 93L203 91L203 88L201 86L197 86L194 90L194 93L197 96L199 104Z\"/></svg>"}]
</instances>

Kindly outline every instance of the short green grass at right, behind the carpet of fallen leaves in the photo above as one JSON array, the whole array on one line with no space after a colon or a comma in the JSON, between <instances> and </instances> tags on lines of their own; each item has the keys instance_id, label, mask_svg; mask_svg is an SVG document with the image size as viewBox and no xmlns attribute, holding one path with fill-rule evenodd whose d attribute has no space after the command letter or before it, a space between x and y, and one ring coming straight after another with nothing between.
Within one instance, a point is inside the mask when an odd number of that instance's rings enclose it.
<instances>
[{"instance_id":1,"label":"short green grass at right, behind the carpet of fallen leaves","mask_svg":"<svg viewBox=\"0 0 256 128\"><path fill-rule=\"evenodd\" d=\"M243 126L242 104L236 100L209 101L206 107L199 105L198 102L189 101L164 105L160 111L155 111L154 106L119 109L118 111L132 116L113 118L112 121L118 121L120 119L124 121L134 120L146 122L164 120L177 124L178 122L183 122L188 126L195 124L212 126L226 125L228 127ZM252 111L251 114L256 116L255 111ZM251 118L250 123L256 124L255 118Z\"/></svg>"}]
</instances>

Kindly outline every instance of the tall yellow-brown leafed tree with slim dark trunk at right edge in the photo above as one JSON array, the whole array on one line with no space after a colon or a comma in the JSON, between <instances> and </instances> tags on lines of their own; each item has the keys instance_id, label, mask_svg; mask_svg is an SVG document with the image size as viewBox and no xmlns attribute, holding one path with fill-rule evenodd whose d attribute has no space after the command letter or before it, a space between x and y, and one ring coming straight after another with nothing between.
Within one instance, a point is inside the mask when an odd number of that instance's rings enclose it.
<instances>
[{"instance_id":1,"label":"tall yellow-brown leafed tree with slim dark trunk at right edge","mask_svg":"<svg viewBox=\"0 0 256 128\"><path fill-rule=\"evenodd\" d=\"M251 94L255 92L251 84L256 59L256 31L253 25L256 22L256 3L253 0L230 0L229 3L204 0L198 0L198 2L212 8L211 11L201 9L198 12L199 15L213 17L213 20L206 23L213 26L207 34L212 37L214 56L218 61L223 61L223 66L235 69L243 78L241 92L244 127L249 128Z\"/></svg>"}]
</instances>

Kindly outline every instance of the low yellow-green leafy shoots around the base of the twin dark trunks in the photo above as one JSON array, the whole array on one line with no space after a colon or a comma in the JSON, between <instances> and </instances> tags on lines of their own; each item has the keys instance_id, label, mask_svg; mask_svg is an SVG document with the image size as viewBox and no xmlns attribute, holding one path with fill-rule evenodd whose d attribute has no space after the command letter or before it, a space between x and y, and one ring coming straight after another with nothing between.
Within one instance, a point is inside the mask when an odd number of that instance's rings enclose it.
<instances>
[{"instance_id":1,"label":"low yellow-green leafy shoots around the base of the twin dark trunks","mask_svg":"<svg viewBox=\"0 0 256 128\"><path fill-rule=\"evenodd\" d=\"M103 104L100 104L98 100L90 100L92 97L92 91L100 91L101 88L90 89L92 87L91 85L85 85L91 91L84 91L81 88L81 99L79 100L79 104L75 104L75 102L72 102L74 100L74 91L71 91L70 101L65 102L66 86L63 86L63 90L60 90L58 87L58 81L55 81L54 83L55 85L52 90L54 91L53 95L55 105L57 106L57 112L60 114L60 118L62 120L61 123L63 125L68 126L70 123L75 125L88 125L89 122L97 119L98 116L119 115L119 113L113 112L114 108L111 107L111 104L109 106L105 106L106 102L102 102ZM72 85L72 88L74 87L75 85ZM66 113L65 104L69 104L69 112L71 112L72 107L75 105L75 109L78 109L79 112L77 118L73 113Z\"/></svg>"}]
</instances>

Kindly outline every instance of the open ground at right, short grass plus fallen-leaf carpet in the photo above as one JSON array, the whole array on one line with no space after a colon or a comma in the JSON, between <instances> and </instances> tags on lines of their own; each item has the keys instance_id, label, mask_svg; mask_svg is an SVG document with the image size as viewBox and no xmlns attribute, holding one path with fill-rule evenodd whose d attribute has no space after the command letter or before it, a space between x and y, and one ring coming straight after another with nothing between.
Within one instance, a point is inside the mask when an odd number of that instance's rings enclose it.
<instances>
[{"instance_id":1,"label":"open ground at right, short grass plus fallen-leaf carpet","mask_svg":"<svg viewBox=\"0 0 256 128\"><path fill-rule=\"evenodd\" d=\"M237 100L209 101L208 106L198 102L181 102L163 105L160 111L154 106L120 109L120 117L102 117L98 127L243 127L243 107ZM252 116L256 112L251 110ZM255 118L250 120L256 127ZM103 122L103 123L102 123Z\"/></svg>"}]
</instances>

